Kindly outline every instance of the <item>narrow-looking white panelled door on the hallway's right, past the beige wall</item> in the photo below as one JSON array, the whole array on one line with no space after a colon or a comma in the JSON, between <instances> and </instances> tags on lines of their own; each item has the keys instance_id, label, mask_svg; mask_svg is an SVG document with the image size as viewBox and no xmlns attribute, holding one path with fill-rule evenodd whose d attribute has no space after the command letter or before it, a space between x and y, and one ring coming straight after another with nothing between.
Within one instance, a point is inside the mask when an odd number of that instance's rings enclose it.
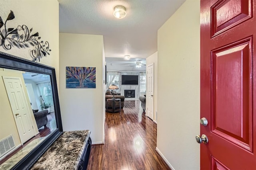
<instances>
[{"instance_id":1,"label":"narrow-looking white panelled door on the hallway's right, past the beige wall","mask_svg":"<svg viewBox=\"0 0 256 170\"><path fill-rule=\"evenodd\" d=\"M154 119L154 64L147 67L148 73L148 93L147 93L147 114L150 119Z\"/></svg>"}]
</instances>

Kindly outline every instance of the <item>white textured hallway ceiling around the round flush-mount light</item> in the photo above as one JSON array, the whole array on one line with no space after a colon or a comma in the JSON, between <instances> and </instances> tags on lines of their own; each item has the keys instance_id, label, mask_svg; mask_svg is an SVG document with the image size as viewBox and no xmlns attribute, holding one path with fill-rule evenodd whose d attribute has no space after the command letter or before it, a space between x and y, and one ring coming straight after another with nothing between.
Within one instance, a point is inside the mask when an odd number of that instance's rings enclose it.
<instances>
[{"instance_id":1,"label":"white textured hallway ceiling around the round flush-mount light","mask_svg":"<svg viewBox=\"0 0 256 170\"><path fill-rule=\"evenodd\" d=\"M157 30L184 1L58 0L60 32L103 35L105 57L145 59L157 51ZM126 8L123 19L113 16L118 5Z\"/></svg>"}]
</instances>

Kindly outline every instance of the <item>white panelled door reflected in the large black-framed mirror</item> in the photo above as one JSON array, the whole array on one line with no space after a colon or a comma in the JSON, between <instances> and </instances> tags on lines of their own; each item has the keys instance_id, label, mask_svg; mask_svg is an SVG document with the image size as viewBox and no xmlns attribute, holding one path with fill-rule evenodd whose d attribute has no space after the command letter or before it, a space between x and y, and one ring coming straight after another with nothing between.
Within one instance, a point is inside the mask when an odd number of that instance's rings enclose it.
<instances>
[{"instance_id":1,"label":"white panelled door reflected in the large black-framed mirror","mask_svg":"<svg viewBox=\"0 0 256 170\"><path fill-rule=\"evenodd\" d=\"M14 120L20 135L20 141L25 143L34 137L35 133L28 112L27 101L19 77L3 77L4 86L11 104Z\"/></svg>"}]
</instances>

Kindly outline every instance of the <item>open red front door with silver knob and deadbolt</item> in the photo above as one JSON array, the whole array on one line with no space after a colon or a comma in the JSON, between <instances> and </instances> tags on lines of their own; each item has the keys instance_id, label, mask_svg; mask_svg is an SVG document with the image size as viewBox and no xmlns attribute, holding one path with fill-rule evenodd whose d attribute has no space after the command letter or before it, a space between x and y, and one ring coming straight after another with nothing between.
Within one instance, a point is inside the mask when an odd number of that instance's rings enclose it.
<instances>
[{"instance_id":1,"label":"open red front door with silver knob and deadbolt","mask_svg":"<svg viewBox=\"0 0 256 170\"><path fill-rule=\"evenodd\" d=\"M256 170L256 0L201 0L201 170Z\"/></svg>"}]
</instances>

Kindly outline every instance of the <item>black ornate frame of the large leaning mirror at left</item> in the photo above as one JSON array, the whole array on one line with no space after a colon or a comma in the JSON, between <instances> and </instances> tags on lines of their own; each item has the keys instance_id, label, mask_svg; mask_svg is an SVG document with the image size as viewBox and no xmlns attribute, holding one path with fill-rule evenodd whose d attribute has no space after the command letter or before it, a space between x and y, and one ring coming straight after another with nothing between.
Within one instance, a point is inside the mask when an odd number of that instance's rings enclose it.
<instances>
[{"instance_id":1,"label":"black ornate frame of the large leaning mirror at left","mask_svg":"<svg viewBox=\"0 0 256 170\"><path fill-rule=\"evenodd\" d=\"M50 75L57 129L12 167L12 170L30 169L63 132L55 68L3 52L0 52L0 67Z\"/></svg>"}]
</instances>

